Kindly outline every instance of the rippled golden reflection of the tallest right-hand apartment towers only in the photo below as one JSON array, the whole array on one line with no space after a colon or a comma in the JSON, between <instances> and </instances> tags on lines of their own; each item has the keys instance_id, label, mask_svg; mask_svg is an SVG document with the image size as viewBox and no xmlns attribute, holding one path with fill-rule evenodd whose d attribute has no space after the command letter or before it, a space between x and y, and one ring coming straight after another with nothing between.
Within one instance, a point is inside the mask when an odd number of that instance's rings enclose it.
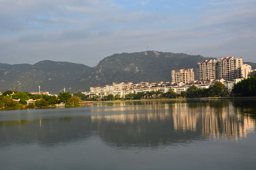
<instances>
[{"instance_id":1,"label":"rippled golden reflection of the tallest right-hand apartment towers only","mask_svg":"<svg viewBox=\"0 0 256 170\"><path fill-rule=\"evenodd\" d=\"M238 139L246 137L247 133L255 129L255 119L234 107L232 102L226 102L225 107L219 109L206 107L201 115L201 132L211 137L226 137Z\"/></svg>"}]
</instances>

